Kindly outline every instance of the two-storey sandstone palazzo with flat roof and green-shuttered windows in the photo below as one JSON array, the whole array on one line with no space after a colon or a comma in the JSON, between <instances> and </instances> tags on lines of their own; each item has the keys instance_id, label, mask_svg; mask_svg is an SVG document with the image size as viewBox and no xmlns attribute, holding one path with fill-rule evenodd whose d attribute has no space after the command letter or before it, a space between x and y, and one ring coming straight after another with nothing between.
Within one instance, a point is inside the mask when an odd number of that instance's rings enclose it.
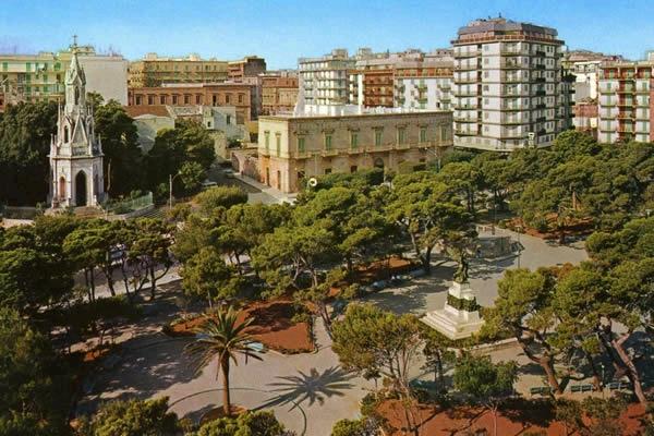
<instances>
[{"instance_id":1,"label":"two-storey sandstone palazzo with flat roof and green-shuttered windows","mask_svg":"<svg viewBox=\"0 0 654 436\"><path fill-rule=\"evenodd\" d=\"M292 193L308 178L332 172L424 168L452 144L449 111L346 109L337 116L261 117L259 180Z\"/></svg>"}]
</instances>

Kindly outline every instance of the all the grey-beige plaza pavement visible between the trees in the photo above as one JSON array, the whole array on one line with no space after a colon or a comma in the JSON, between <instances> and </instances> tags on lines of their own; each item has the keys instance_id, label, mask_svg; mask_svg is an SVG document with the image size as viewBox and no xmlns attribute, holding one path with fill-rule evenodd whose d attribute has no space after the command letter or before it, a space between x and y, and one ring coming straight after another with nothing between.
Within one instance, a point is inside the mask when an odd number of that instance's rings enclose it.
<instances>
[{"instance_id":1,"label":"all the grey-beige plaza pavement visible between the trees","mask_svg":"<svg viewBox=\"0 0 654 436\"><path fill-rule=\"evenodd\" d=\"M518 237L499 230L498 234ZM499 262L475 259L471 263L471 284L480 290L479 301L491 305L497 295L497 280L504 270L518 266L537 268L586 258L579 246L558 246L541 239L521 234L524 251L520 256ZM435 259L429 277L417 278L409 286L386 289L364 299L397 313L423 314L443 307L446 290L456 265ZM175 287L174 282L168 287ZM164 287L166 288L166 287ZM166 292L166 291L164 291ZM161 292L160 292L161 295ZM171 310L168 316L172 316ZM165 317L164 317L165 319ZM220 404L220 383L216 380L216 365L210 364L196 373L193 362L183 354L184 339L170 339L157 332L161 317L145 319L135 326L124 342L120 362L112 368L94 374L87 385L89 393L81 401L81 410L90 411L100 401L112 398L156 398L168 396L171 410L180 417L198 420L202 414ZM315 353L280 355L268 352L263 361L239 359L231 368L232 401L250 409L272 409L278 419L299 435L327 436L334 423L359 415L359 400L374 388L372 382L343 372L338 356L331 351L320 319L316 320ZM525 364L518 390L528 392L530 386L542 386L538 367L530 364L518 348L492 354L494 360L517 360ZM412 376L432 378L416 360Z\"/></svg>"}]
</instances>

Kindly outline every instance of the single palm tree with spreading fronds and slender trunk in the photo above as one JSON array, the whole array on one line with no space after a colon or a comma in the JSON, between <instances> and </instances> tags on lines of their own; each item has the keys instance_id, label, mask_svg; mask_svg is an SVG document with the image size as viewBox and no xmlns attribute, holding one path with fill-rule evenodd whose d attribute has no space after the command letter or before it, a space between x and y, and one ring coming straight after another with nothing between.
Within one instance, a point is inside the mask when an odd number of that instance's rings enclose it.
<instances>
[{"instance_id":1,"label":"single palm tree with spreading fronds and slender trunk","mask_svg":"<svg viewBox=\"0 0 654 436\"><path fill-rule=\"evenodd\" d=\"M207 315L206 322L195 329L195 341L184 349L186 353L197 359L198 371L202 371L214 358L217 359L216 379L222 372L222 409L226 415L231 413L229 396L230 360L237 365L239 364L238 354L262 360L250 348L249 342L252 341L252 337L245 332L254 318L246 318L239 323L238 315L232 306L227 310L220 307L215 313Z\"/></svg>"}]
</instances>

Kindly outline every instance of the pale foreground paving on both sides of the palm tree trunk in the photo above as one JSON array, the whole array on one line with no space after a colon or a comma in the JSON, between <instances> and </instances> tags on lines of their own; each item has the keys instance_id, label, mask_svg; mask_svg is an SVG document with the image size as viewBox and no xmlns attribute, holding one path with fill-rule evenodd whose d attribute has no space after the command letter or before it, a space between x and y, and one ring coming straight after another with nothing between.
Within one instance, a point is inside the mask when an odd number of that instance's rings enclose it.
<instances>
[{"instance_id":1,"label":"pale foreground paving on both sides of the palm tree trunk","mask_svg":"<svg viewBox=\"0 0 654 436\"><path fill-rule=\"evenodd\" d=\"M231 398L247 409L271 409L299 435L329 436L334 423L359 414L359 400L372 388L361 377L344 372L329 347L322 320L316 322L318 351L307 354L263 354L263 361L239 359L230 371ZM137 338L124 346L116 367L95 375L80 409L93 411L101 401L118 398L168 396L180 417L197 421L221 404L216 363L196 373L183 353L187 339L160 334Z\"/></svg>"}]
</instances>

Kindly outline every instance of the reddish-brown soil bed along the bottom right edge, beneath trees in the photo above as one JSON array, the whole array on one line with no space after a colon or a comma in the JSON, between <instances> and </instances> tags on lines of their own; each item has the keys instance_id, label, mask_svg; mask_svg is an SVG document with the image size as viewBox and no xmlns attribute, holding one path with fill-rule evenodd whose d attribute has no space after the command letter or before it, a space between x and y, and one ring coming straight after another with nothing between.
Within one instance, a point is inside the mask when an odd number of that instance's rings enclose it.
<instances>
[{"instance_id":1,"label":"reddish-brown soil bed along the bottom right edge, beneath trees","mask_svg":"<svg viewBox=\"0 0 654 436\"><path fill-rule=\"evenodd\" d=\"M505 408L497 415L497 434L518 436L525 432L543 432L548 436L566 435L562 423L554 421L553 411L545 402L521 401L520 405ZM379 404L377 411L388 420L392 428L390 435L405 434L405 413L399 400L387 400ZM415 422L422 422L421 434L429 436L463 436L467 434L493 434L493 414L481 408L460 407L440 409L435 405L421 405L411 413ZM637 436L643 432L642 420L644 408L631 404L620 416L623 436ZM486 431L487 433L482 433ZM579 436L577 432L568 436Z\"/></svg>"}]
</instances>

